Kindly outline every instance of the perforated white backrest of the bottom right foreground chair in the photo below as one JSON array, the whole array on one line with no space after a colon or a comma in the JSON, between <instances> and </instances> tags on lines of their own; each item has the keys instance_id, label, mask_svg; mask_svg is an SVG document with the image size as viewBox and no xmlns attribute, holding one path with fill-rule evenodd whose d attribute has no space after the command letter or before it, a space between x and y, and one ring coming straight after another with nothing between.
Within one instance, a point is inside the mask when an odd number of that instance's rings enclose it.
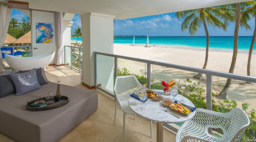
<instances>
[{"instance_id":1,"label":"perforated white backrest of the bottom right foreground chair","mask_svg":"<svg viewBox=\"0 0 256 142\"><path fill-rule=\"evenodd\" d=\"M214 138L212 141L240 142L244 131L250 124L250 120L241 108L234 108L228 113L218 113L205 109L196 109L192 121L199 123L206 130L208 128L222 128L223 137ZM209 139L208 139L209 140Z\"/></svg>"}]
</instances>

